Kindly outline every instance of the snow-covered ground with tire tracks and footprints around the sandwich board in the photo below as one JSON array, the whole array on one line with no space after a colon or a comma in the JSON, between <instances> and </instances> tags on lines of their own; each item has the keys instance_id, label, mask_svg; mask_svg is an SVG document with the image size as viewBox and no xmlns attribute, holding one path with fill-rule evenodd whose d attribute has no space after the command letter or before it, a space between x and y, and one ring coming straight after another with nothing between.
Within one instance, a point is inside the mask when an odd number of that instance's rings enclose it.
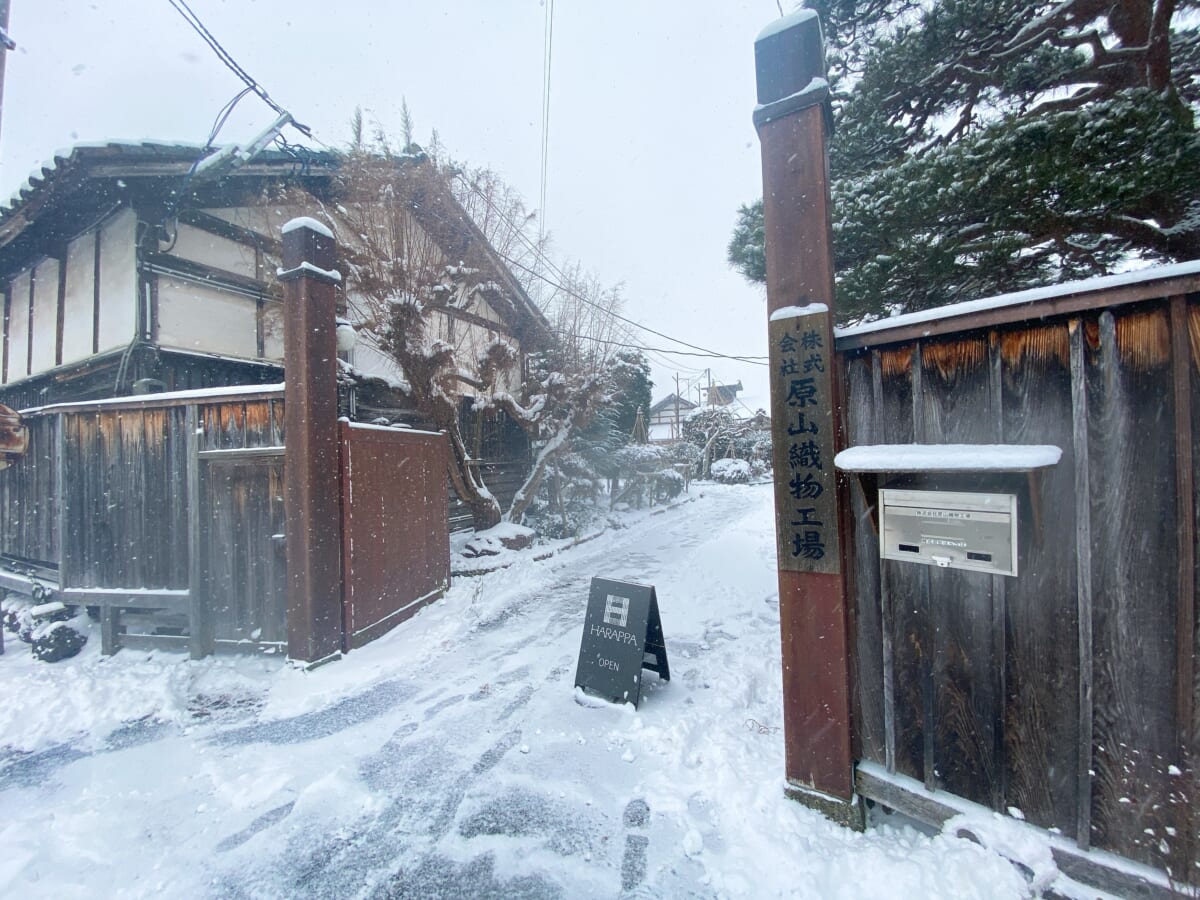
<instances>
[{"instance_id":1,"label":"snow-covered ground with tire tracks and footprints around the sandwich board","mask_svg":"<svg viewBox=\"0 0 1200 900\"><path fill-rule=\"evenodd\" d=\"M692 497L308 673L6 642L0 894L1028 896L976 844L784 799L770 487ZM673 679L636 712L576 700L593 575L658 589Z\"/></svg>"}]
</instances>

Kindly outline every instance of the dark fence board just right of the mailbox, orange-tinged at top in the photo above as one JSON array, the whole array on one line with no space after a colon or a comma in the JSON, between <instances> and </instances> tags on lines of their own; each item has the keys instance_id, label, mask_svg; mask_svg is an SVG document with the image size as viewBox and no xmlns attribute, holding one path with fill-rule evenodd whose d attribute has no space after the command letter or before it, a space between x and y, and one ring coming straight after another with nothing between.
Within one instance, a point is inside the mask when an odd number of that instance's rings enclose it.
<instances>
[{"instance_id":1,"label":"dark fence board just right of the mailbox, orange-tinged at top","mask_svg":"<svg viewBox=\"0 0 1200 900\"><path fill-rule=\"evenodd\" d=\"M1002 332L1003 443L1062 448L1043 469L1026 522L1020 576L1004 578L1006 805L1044 828L1076 830L1079 614L1075 479L1067 323ZM1022 509L1028 517L1028 508Z\"/></svg>"}]
</instances>

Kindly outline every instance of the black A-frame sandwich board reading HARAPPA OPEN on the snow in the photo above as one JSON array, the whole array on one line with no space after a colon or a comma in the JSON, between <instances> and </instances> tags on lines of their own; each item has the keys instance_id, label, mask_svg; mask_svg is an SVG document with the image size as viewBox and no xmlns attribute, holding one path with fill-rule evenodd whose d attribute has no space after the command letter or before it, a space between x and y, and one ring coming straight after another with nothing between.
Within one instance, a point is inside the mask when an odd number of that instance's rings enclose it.
<instances>
[{"instance_id":1,"label":"black A-frame sandwich board reading HARAPPA OPEN on the snow","mask_svg":"<svg viewBox=\"0 0 1200 900\"><path fill-rule=\"evenodd\" d=\"M575 686L637 707L643 668L671 680L654 587L593 578Z\"/></svg>"}]
</instances>

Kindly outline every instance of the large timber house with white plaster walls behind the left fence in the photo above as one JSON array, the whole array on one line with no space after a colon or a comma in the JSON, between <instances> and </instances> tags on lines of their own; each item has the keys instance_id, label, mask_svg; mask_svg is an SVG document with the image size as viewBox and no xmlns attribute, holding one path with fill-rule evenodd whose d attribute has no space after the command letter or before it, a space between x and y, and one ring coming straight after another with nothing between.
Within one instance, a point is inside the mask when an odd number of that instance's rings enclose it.
<instances>
[{"instance_id":1,"label":"large timber house with white plaster walls behind the left fence","mask_svg":"<svg viewBox=\"0 0 1200 900\"><path fill-rule=\"evenodd\" d=\"M28 409L282 380L280 229L330 199L343 157L269 150L202 172L202 155L184 144L80 145L0 208L0 404ZM424 156L396 164L430 166ZM438 311L431 337L464 360L502 337L523 365L548 334L541 312L439 180L409 182L421 194L404 205L406 246L482 274L478 288ZM280 196L287 200L270 199ZM354 252L354 235L338 240ZM361 320L356 298L343 300L344 314ZM395 419L403 397L378 389L403 382L395 364L370 338L349 361L383 376L374 390L368 380L359 391L360 416ZM521 374L508 374L514 386ZM464 418L474 415L470 384L456 389ZM512 469L493 485L504 502L521 481L528 446L503 413L486 415L464 433L475 458Z\"/></svg>"}]
</instances>

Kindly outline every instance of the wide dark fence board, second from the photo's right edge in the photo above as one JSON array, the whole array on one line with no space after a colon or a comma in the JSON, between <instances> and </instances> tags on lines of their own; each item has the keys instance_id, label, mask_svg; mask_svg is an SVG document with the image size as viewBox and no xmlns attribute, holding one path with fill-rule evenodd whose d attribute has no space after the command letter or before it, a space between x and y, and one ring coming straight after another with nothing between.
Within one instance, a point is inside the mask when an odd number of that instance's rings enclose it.
<instances>
[{"instance_id":1,"label":"wide dark fence board, second from the photo's right edge","mask_svg":"<svg viewBox=\"0 0 1200 900\"><path fill-rule=\"evenodd\" d=\"M1177 820L1174 414L1162 307L1103 312L1088 372L1092 844L1158 868ZM1169 842L1163 846L1169 847ZM1178 869L1177 869L1178 870Z\"/></svg>"}]
</instances>

